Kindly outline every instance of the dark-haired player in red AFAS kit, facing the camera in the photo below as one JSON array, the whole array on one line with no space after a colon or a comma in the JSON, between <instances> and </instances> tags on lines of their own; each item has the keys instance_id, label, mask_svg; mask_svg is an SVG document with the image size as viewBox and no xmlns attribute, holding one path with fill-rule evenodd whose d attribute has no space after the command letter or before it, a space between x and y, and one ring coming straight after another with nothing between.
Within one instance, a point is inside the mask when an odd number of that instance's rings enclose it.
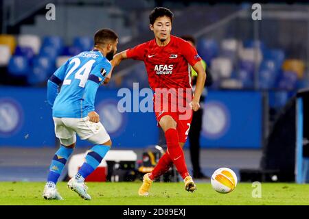
<instances>
[{"instance_id":1,"label":"dark-haired player in red AFAS kit, facing the camera","mask_svg":"<svg viewBox=\"0 0 309 219\"><path fill-rule=\"evenodd\" d=\"M148 196L152 181L167 172L172 164L183 178L185 190L196 190L187 171L182 147L189 133L192 110L196 111L200 107L206 73L196 49L189 42L170 34L173 16L167 8L152 10L149 16L150 29L154 32L155 39L117 53L111 61L113 66L127 58L144 61L150 88L154 91L155 115L168 144L167 153L159 159L154 170L144 175L143 184L139 188L140 196ZM192 91L189 65L198 73L194 95L187 92ZM168 97L165 95L162 99L160 95L166 93ZM173 96L176 96L177 101ZM179 103L188 103L187 106L190 107L184 111L179 108L174 110L174 106L179 107Z\"/></svg>"}]
</instances>

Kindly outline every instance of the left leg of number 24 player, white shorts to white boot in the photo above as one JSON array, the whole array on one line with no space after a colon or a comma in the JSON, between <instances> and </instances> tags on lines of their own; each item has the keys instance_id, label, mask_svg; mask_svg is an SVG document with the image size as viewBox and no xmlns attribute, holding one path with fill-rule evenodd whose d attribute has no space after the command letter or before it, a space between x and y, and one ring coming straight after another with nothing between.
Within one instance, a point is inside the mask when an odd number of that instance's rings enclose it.
<instances>
[{"instance_id":1,"label":"left leg of number 24 player, white shorts to white boot","mask_svg":"<svg viewBox=\"0 0 309 219\"><path fill-rule=\"evenodd\" d=\"M61 118L54 118L55 133L60 140L60 148L56 151L52 163L49 166L49 172L47 175L47 183L43 191L43 197L45 199L57 199L61 200L62 197L56 190L56 183L62 173L67 159L73 152L76 146L76 134L73 130L65 127Z\"/></svg>"}]
</instances>

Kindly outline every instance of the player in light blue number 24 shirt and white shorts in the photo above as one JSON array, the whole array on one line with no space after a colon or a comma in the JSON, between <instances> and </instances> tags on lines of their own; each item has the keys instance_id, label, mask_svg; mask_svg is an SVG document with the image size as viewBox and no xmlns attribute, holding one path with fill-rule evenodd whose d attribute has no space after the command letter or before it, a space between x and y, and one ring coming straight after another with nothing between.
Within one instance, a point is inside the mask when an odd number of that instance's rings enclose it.
<instances>
[{"instance_id":1,"label":"player in light blue number 24 shirt and white shorts","mask_svg":"<svg viewBox=\"0 0 309 219\"><path fill-rule=\"evenodd\" d=\"M62 200L56 190L56 183L76 146L77 133L81 140L88 140L94 146L67 185L82 198L91 200L84 179L99 166L111 147L111 138L95 112L95 94L99 86L108 83L110 79L112 65L109 60L113 59L117 51L117 43L118 36L114 31L100 29L95 33L92 51L71 57L48 80L47 99L53 108L55 133L61 146L49 167L43 192L45 199Z\"/></svg>"}]
</instances>

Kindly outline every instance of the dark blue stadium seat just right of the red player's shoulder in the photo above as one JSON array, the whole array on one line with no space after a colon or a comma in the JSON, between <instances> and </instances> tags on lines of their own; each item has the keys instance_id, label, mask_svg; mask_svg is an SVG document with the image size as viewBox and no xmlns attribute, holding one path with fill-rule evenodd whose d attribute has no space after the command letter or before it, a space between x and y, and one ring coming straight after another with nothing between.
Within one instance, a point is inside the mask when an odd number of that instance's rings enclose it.
<instances>
[{"instance_id":1,"label":"dark blue stadium seat just right of the red player's shoulder","mask_svg":"<svg viewBox=\"0 0 309 219\"><path fill-rule=\"evenodd\" d=\"M209 65L214 57L219 54L219 46L216 40L201 39L197 43L197 51L201 58Z\"/></svg>"}]
</instances>

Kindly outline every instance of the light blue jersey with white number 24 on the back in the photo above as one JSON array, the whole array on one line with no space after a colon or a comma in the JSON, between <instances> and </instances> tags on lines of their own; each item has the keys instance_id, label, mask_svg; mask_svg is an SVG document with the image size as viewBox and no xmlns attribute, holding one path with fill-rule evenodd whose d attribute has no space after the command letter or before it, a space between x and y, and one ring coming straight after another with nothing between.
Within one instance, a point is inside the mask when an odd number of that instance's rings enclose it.
<instances>
[{"instance_id":1,"label":"light blue jersey with white number 24 on the back","mask_svg":"<svg viewBox=\"0 0 309 219\"><path fill-rule=\"evenodd\" d=\"M95 94L111 67L100 51L85 51L58 68L47 83L53 117L84 118L94 111Z\"/></svg>"}]
</instances>

